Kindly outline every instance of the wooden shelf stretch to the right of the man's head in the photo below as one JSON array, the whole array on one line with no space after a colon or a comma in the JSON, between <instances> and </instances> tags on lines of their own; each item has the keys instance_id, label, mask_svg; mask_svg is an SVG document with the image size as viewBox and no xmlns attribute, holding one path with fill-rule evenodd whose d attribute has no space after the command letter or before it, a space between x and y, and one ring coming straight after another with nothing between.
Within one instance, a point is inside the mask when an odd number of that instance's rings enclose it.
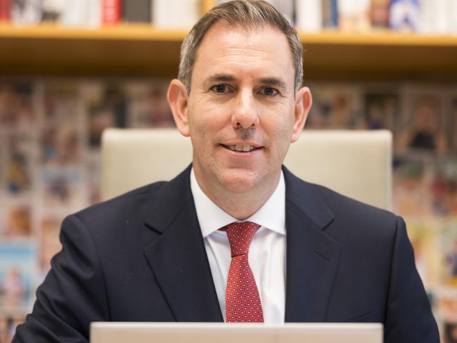
<instances>
[{"instance_id":1,"label":"wooden shelf stretch to the right of the man's head","mask_svg":"<svg viewBox=\"0 0 457 343\"><path fill-rule=\"evenodd\" d=\"M457 82L457 37L372 32L301 34L305 78Z\"/></svg>"}]
</instances>

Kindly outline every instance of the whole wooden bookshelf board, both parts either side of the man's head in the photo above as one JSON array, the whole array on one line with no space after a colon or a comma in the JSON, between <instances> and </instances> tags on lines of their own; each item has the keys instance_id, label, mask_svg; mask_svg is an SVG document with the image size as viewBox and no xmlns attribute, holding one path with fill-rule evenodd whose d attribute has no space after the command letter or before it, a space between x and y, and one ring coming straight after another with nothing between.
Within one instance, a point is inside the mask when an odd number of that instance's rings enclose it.
<instances>
[{"instance_id":1,"label":"whole wooden bookshelf board, both parts either side of the man's head","mask_svg":"<svg viewBox=\"0 0 457 343\"><path fill-rule=\"evenodd\" d=\"M0 25L0 76L175 77L186 31ZM457 37L300 34L305 79L457 82Z\"/></svg>"}]
</instances>

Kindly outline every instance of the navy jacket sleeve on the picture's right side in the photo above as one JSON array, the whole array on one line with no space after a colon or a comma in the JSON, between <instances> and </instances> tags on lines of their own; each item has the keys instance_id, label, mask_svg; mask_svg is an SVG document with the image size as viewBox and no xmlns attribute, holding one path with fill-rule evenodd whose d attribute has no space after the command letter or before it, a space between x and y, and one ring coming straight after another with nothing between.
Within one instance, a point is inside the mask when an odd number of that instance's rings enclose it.
<instances>
[{"instance_id":1,"label":"navy jacket sleeve on the picture's right side","mask_svg":"<svg viewBox=\"0 0 457 343\"><path fill-rule=\"evenodd\" d=\"M397 217L385 316L385 343L439 343L437 323L400 217Z\"/></svg>"}]
</instances>

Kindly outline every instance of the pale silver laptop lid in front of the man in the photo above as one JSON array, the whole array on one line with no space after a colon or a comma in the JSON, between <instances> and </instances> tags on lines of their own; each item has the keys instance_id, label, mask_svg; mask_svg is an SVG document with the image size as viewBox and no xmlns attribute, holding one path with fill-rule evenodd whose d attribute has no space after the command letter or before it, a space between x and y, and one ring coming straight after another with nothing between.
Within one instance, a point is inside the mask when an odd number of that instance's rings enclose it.
<instances>
[{"instance_id":1,"label":"pale silver laptop lid in front of the man","mask_svg":"<svg viewBox=\"0 0 457 343\"><path fill-rule=\"evenodd\" d=\"M91 343L382 343L380 323L91 323Z\"/></svg>"}]
</instances>

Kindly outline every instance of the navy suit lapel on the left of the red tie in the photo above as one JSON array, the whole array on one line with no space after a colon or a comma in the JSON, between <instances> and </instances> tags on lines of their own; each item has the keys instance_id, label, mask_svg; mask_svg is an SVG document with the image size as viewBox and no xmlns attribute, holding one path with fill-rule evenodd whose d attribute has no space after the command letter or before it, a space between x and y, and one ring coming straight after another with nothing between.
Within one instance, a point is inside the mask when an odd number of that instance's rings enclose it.
<instances>
[{"instance_id":1,"label":"navy suit lapel on the left of the red tie","mask_svg":"<svg viewBox=\"0 0 457 343\"><path fill-rule=\"evenodd\" d=\"M145 249L176 321L222 321L191 194L190 170L157 192L146 225L157 239Z\"/></svg>"}]
</instances>

